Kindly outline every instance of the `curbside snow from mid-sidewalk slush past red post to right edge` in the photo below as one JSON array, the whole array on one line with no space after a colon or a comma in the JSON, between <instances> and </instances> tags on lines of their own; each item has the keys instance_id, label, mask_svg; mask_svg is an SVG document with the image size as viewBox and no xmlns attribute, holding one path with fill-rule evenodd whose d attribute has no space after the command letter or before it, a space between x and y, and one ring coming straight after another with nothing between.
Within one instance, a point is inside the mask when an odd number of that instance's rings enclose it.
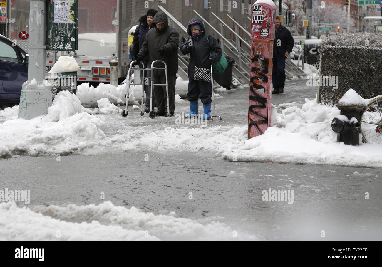
<instances>
[{"instance_id":1,"label":"curbside snow from mid-sidewalk slush past red post to right edge","mask_svg":"<svg viewBox=\"0 0 382 267\"><path fill-rule=\"evenodd\" d=\"M247 126L230 129L207 121L206 127L168 126L163 131L140 134L139 139L131 138L130 133L123 149L202 150L231 161L382 167L381 145L338 143L330 123L340 114L339 110L317 104L316 100L305 101L302 108L285 105L282 114L273 106L272 127L249 140ZM123 138L122 135L113 139Z\"/></svg>"}]
</instances>

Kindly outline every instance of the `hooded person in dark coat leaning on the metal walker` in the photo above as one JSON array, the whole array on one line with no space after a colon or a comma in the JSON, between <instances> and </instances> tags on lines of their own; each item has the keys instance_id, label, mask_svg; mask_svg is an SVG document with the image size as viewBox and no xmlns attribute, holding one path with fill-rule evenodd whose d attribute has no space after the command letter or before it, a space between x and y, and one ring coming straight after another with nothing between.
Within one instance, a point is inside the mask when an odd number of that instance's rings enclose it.
<instances>
[{"instance_id":1,"label":"hooded person in dark coat leaning on the metal walker","mask_svg":"<svg viewBox=\"0 0 382 267\"><path fill-rule=\"evenodd\" d=\"M158 13L152 19L153 28L147 32L141 49L139 50L136 60L142 61L144 57L150 55L150 65L154 60L163 60L167 65L168 79L168 102L170 110L167 110L167 94L166 86L154 86L155 102L157 104L157 116L165 116L167 112L170 116L174 115L175 111L175 81L176 73L178 73L178 47L179 34L168 25L167 16L163 11ZM156 63L154 67L164 68L163 63ZM153 70L153 83L165 84L165 70Z\"/></svg>"}]
</instances>

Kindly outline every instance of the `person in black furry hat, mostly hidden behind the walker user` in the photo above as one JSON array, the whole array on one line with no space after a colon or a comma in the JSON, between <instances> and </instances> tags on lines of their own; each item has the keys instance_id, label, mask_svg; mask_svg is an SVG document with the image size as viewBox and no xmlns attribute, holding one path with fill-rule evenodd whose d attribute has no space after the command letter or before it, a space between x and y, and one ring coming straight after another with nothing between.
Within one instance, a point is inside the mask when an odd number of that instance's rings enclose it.
<instances>
[{"instance_id":1,"label":"person in black furry hat, mostly hidden behind the walker user","mask_svg":"<svg viewBox=\"0 0 382 267\"><path fill-rule=\"evenodd\" d=\"M152 19L154 18L155 14L157 14L157 10L150 8L147 10L146 14L141 16L139 18L139 25L137 28L135 28L134 32L134 39L133 39L133 44L130 46L130 54L133 56L133 60L138 57L138 52L141 49L144 38L149 31L149 29L152 28ZM133 48L133 49L132 49ZM131 51L133 50L133 51ZM148 65L149 62L149 55L147 55L143 59L143 64L146 68L151 68L151 65ZM143 77L150 77L151 71L144 71ZM144 112L148 113L150 112L150 94L151 94L151 86L148 83L148 79L144 81L144 91L146 93L146 102L145 102L145 109ZM143 105L143 103L142 103ZM155 95L152 96L152 107L155 107Z\"/></svg>"}]
</instances>

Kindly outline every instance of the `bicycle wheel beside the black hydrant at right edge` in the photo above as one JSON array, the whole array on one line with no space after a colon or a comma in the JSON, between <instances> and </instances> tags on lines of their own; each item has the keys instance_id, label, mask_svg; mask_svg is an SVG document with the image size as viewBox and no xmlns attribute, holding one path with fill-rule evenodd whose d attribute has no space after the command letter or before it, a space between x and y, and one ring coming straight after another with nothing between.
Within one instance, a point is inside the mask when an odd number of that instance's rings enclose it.
<instances>
[{"instance_id":1,"label":"bicycle wheel beside the black hydrant at right edge","mask_svg":"<svg viewBox=\"0 0 382 267\"><path fill-rule=\"evenodd\" d=\"M364 143L382 144L382 95L371 99L361 113L361 133Z\"/></svg>"}]
</instances>

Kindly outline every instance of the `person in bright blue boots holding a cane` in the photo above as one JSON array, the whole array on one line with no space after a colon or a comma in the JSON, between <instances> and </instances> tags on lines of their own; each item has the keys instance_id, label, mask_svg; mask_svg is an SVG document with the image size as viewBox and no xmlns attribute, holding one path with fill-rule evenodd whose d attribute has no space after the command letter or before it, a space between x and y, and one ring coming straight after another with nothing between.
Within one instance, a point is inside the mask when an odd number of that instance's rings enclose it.
<instances>
[{"instance_id":1,"label":"person in bright blue boots holding a cane","mask_svg":"<svg viewBox=\"0 0 382 267\"><path fill-rule=\"evenodd\" d=\"M190 53L188 63L188 93L187 100L190 102L189 114L185 118L199 117L198 97L203 103L204 114L201 119L209 120L211 118L211 97L212 87L211 82L203 82L194 80L195 66L199 68L210 69L211 63L220 60L222 57L222 49L214 37L206 34L204 24L198 17L191 19L190 24L187 26L187 32L190 36L186 42L180 45L180 50L183 55ZM208 39L207 39L208 38Z\"/></svg>"}]
</instances>

